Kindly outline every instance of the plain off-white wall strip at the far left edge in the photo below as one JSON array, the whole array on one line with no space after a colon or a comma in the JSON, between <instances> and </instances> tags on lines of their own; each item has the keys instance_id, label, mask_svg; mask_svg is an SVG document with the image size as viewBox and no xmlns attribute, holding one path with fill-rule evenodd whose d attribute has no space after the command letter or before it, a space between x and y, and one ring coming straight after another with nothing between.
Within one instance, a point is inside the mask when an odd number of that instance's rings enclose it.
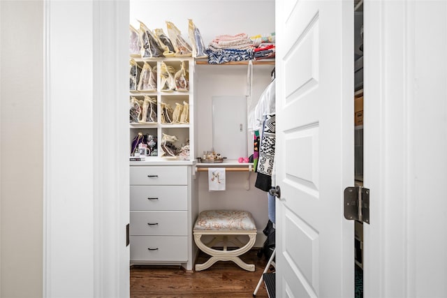
<instances>
[{"instance_id":1,"label":"plain off-white wall strip at the far left edge","mask_svg":"<svg viewBox=\"0 0 447 298\"><path fill-rule=\"evenodd\" d=\"M42 297L43 1L0 1L0 297Z\"/></svg>"}]
</instances>

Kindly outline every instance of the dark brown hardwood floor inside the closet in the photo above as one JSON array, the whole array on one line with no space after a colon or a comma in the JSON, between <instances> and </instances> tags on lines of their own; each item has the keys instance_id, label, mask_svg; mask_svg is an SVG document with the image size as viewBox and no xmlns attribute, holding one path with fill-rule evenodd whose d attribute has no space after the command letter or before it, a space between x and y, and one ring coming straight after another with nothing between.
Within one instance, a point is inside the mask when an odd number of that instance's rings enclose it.
<instances>
[{"instance_id":1,"label":"dark brown hardwood floor inside the closet","mask_svg":"<svg viewBox=\"0 0 447 298\"><path fill-rule=\"evenodd\" d=\"M258 258L258 249L242 255L242 260L256 265L256 271L241 269L233 262L217 262L203 271L187 272L180 267L131 267L131 298L143 297L253 297L253 292L264 270L264 256ZM197 262L208 256L200 252ZM268 297L264 284L256 297Z\"/></svg>"}]
</instances>

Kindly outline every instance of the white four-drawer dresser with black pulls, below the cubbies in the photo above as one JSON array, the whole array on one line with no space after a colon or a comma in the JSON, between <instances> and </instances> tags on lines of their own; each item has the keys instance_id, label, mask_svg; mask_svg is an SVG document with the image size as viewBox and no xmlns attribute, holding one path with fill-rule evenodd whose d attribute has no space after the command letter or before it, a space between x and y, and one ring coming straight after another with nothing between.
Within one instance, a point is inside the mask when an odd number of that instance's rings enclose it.
<instances>
[{"instance_id":1,"label":"white four-drawer dresser with black pulls, below the cubbies","mask_svg":"<svg viewBox=\"0 0 447 298\"><path fill-rule=\"evenodd\" d=\"M198 214L193 165L156 164L133 163L130 168L131 265L179 264L192 270L197 253L192 228Z\"/></svg>"}]
</instances>

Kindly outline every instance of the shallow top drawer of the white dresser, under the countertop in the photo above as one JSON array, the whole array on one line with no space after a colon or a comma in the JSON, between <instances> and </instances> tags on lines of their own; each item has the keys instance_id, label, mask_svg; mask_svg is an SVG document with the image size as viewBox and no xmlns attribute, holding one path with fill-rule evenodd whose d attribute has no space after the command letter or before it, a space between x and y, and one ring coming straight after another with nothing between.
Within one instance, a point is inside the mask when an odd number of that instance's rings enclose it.
<instances>
[{"instance_id":1,"label":"shallow top drawer of the white dresser, under the countertop","mask_svg":"<svg viewBox=\"0 0 447 298\"><path fill-rule=\"evenodd\" d=\"M132 166L131 185L187 185L188 167L169 166Z\"/></svg>"}]
</instances>

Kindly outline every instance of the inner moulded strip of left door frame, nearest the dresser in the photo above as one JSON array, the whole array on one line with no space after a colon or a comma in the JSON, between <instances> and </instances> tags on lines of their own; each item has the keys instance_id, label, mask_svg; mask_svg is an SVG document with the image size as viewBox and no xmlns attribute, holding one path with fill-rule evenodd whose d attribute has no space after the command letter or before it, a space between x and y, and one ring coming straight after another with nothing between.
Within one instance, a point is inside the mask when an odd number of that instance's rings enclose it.
<instances>
[{"instance_id":1,"label":"inner moulded strip of left door frame, nearest the dresser","mask_svg":"<svg viewBox=\"0 0 447 298\"><path fill-rule=\"evenodd\" d=\"M94 1L94 297L129 297L129 1Z\"/></svg>"}]
</instances>

